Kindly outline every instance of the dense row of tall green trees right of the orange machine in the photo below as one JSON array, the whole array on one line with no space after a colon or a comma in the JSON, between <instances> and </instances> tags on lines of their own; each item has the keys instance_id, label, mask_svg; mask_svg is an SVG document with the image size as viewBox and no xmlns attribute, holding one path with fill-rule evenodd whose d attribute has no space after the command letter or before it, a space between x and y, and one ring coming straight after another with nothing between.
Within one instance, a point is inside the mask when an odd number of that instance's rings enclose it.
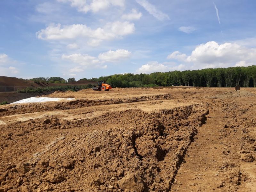
<instances>
[{"instance_id":1,"label":"dense row of tall green trees right of the orange machine","mask_svg":"<svg viewBox=\"0 0 256 192\"><path fill-rule=\"evenodd\" d=\"M199 86L256 87L256 66L207 68L201 70L156 72L151 74L117 74L88 79L106 81L113 87Z\"/></svg>"}]
</instances>

